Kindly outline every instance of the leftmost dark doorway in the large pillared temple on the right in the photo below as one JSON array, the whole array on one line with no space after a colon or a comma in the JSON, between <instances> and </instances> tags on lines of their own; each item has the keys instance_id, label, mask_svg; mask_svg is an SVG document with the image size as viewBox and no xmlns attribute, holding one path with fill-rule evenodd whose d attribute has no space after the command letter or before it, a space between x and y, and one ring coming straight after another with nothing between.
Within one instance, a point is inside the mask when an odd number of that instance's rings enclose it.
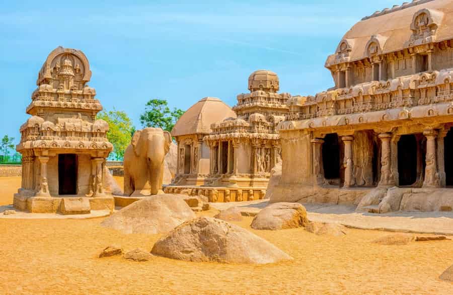
<instances>
[{"instance_id":1,"label":"leftmost dark doorway in the large pillared temple on the right","mask_svg":"<svg viewBox=\"0 0 453 295\"><path fill-rule=\"evenodd\" d=\"M340 178L340 144L337 133L330 133L324 137L323 169L325 179Z\"/></svg>"}]
</instances>

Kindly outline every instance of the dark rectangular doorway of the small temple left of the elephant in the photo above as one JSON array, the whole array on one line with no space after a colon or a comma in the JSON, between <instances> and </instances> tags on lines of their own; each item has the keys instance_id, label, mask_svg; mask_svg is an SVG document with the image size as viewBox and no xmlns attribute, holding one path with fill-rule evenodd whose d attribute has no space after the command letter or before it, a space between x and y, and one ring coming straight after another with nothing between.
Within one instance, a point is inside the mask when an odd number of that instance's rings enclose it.
<instances>
[{"instance_id":1,"label":"dark rectangular doorway of the small temple left of the elephant","mask_svg":"<svg viewBox=\"0 0 453 295\"><path fill-rule=\"evenodd\" d=\"M58 155L58 194L77 194L77 156Z\"/></svg>"}]
</instances>

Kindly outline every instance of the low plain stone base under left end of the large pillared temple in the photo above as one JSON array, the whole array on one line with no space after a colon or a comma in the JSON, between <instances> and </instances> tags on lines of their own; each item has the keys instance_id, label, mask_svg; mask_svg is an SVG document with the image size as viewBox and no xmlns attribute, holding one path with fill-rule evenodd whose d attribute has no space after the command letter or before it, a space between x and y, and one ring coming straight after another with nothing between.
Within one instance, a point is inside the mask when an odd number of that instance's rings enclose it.
<instances>
[{"instance_id":1,"label":"low plain stone base under left end of the large pillared temple","mask_svg":"<svg viewBox=\"0 0 453 295\"><path fill-rule=\"evenodd\" d=\"M312 186L278 184L272 188L271 203L301 202L313 204L357 205L373 188L340 188L338 186Z\"/></svg>"}]
</instances>

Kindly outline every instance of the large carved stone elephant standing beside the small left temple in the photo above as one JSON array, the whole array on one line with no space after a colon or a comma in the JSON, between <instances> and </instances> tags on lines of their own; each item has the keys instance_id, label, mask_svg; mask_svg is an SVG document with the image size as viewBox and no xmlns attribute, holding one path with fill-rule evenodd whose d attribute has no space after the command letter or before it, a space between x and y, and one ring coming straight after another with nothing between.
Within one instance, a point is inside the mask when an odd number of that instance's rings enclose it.
<instances>
[{"instance_id":1,"label":"large carved stone elephant standing beside the small left temple","mask_svg":"<svg viewBox=\"0 0 453 295\"><path fill-rule=\"evenodd\" d=\"M124 152L124 194L149 196L162 192L164 158L172 136L161 128L135 131Z\"/></svg>"}]
</instances>

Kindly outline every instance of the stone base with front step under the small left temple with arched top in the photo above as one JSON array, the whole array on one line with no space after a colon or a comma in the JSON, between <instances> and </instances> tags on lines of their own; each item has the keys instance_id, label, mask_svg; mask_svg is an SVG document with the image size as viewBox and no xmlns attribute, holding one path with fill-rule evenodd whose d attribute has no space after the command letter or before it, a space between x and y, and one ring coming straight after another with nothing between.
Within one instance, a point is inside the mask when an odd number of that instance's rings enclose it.
<instances>
[{"instance_id":1,"label":"stone base with front step under the small left temple with arched top","mask_svg":"<svg viewBox=\"0 0 453 295\"><path fill-rule=\"evenodd\" d=\"M16 209L30 213L89 214L91 210L113 211L113 196L102 197L31 197L21 193L14 195Z\"/></svg>"}]
</instances>

